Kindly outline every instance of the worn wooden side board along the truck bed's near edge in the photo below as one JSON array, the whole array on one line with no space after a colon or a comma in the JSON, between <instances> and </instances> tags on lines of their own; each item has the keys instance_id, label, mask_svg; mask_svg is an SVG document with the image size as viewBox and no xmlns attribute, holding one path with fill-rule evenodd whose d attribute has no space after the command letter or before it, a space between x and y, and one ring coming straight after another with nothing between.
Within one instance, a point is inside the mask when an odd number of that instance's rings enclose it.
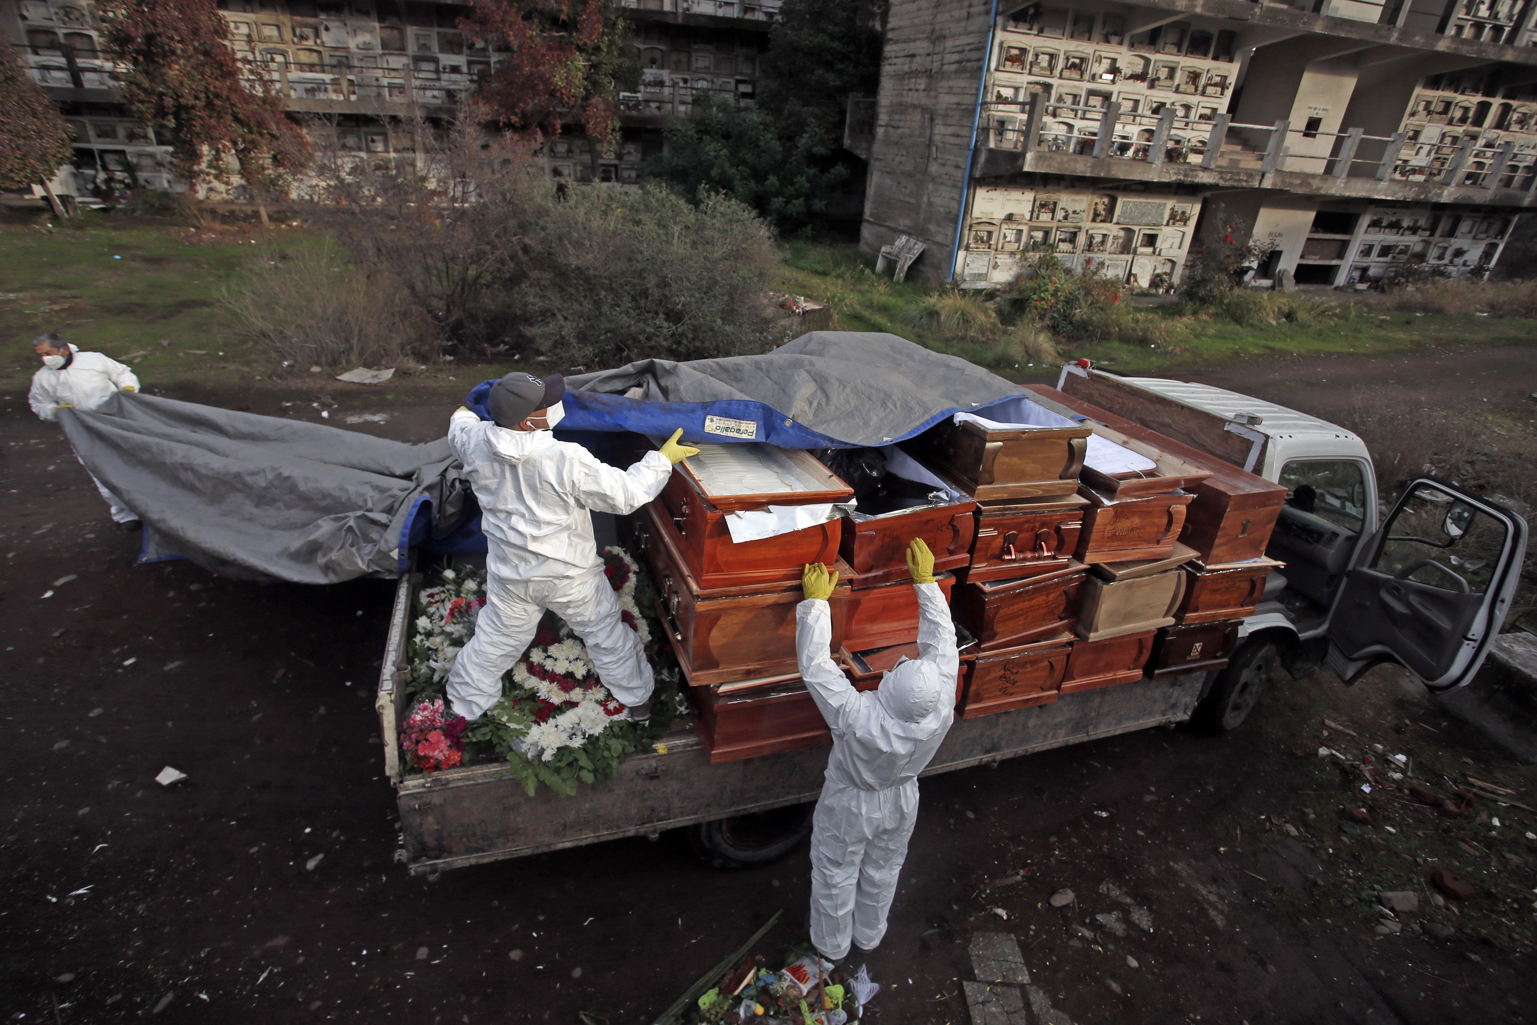
<instances>
[{"instance_id":1,"label":"worn wooden side board along the truck bed's near edge","mask_svg":"<svg viewBox=\"0 0 1537 1025\"><path fill-rule=\"evenodd\" d=\"M996 764L1067 744L1190 718L1203 675L1064 695L1050 705L958 721L924 776ZM687 724L681 730L692 730ZM575 798L529 798L503 764L410 776L398 784L412 874L647 836L732 814L816 801L827 748L710 765L687 733L667 755L626 759L613 779Z\"/></svg>"}]
</instances>

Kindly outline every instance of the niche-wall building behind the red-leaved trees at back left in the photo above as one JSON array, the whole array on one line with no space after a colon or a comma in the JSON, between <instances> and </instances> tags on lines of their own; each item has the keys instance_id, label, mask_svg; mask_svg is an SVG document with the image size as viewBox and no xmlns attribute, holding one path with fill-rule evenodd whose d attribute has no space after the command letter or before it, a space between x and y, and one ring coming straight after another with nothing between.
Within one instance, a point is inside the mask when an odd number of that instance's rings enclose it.
<instances>
[{"instance_id":1,"label":"niche-wall building behind the red-leaved trees at back left","mask_svg":"<svg viewBox=\"0 0 1537 1025\"><path fill-rule=\"evenodd\" d=\"M317 146L387 161L410 144L401 117L450 117L496 54L458 29L467 8L424 0L218 0L231 46L266 75ZM541 154L553 180L632 184L659 152L670 117L696 98L750 104L779 0L622 0L635 26L641 91L619 97L621 144L593 152L567 132ZM177 187L169 149L134 123L112 88L112 61L89 0L0 0L0 31L75 131L74 187L105 195ZM68 184L68 183L66 183Z\"/></svg>"}]
</instances>

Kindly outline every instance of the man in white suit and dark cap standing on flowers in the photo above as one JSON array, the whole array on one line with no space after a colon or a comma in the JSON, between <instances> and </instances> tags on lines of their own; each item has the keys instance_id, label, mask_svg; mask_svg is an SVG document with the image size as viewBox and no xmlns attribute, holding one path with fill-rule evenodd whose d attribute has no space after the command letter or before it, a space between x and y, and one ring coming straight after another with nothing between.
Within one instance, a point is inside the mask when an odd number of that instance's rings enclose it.
<instances>
[{"instance_id":1,"label":"man in white suit and dark cap standing on flowers","mask_svg":"<svg viewBox=\"0 0 1537 1025\"><path fill-rule=\"evenodd\" d=\"M661 493L673 464L699 450L678 444L678 429L629 470L607 466L550 433L564 415L564 395L559 375L509 373L486 400L492 421L460 407L449 423L449 447L480 501L489 546L486 605L449 672L449 702L466 719L501 699L503 673L527 650L546 609L586 642L598 678L630 719L650 716L652 667L619 618L589 510L635 512Z\"/></svg>"}]
</instances>

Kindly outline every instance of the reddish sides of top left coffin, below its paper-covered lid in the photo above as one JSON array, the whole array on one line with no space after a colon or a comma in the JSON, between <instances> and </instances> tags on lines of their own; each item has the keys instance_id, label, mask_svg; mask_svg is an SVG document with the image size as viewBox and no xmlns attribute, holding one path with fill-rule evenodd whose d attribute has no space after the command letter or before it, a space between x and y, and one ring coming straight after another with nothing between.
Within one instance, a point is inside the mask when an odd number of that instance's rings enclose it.
<instances>
[{"instance_id":1,"label":"reddish sides of top left coffin, below its paper-covered lid","mask_svg":"<svg viewBox=\"0 0 1537 1025\"><path fill-rule=\"evenodd\" d=\"M682 562L707 590L752 584L798 584L807 562L832 566L838 558L842 519L776 538L736 544L725 510L712 504L682 473L673 473L650 507L658 527L672 535Z\"/></svg>"}]
</instances>

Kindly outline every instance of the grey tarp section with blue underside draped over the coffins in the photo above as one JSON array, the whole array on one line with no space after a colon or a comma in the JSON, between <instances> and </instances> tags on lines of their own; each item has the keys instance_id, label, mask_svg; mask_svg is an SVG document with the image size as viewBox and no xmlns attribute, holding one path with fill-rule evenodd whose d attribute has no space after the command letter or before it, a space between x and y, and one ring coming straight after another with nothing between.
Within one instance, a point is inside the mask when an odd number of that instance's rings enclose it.
<instances>
[{"instance_id":1,"label":"grey tarp section with blue underside draped over the coffins","mask_svg":"<svg viewBox=\"0 0 1537 1025\"><path fill-rule=\"evenodd\" d=\"M1022 393L1017 384L959 357L931 352L898 335L855 330L813 330L761 357L641 360L616 370L572 376L566 384L650 403L710 406L704 412L729 416L738 415L730 409L733 404L764 406L779 418L759 416L756 440L792 449L890 444L947 412ZM581 416L575 416L578 410L567 403L570 427L670 433L667 424L675 424L686 427L689 436L704 436L689 430L690 410L647 410L601 400L586 400L583 406ZM702 418L699 410L692 412ZM753 410L739 415L753 418Z\"/></svg>"}]
</instances>

